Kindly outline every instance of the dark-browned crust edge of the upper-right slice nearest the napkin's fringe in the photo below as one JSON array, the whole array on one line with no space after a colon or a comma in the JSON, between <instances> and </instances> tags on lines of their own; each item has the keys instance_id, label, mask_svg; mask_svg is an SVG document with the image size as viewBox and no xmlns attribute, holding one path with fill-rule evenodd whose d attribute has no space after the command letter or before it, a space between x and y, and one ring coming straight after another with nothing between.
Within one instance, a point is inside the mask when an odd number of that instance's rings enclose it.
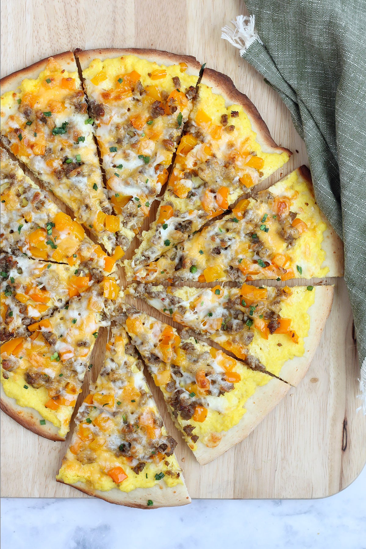
<instances>
[{"instance_id":1,"label":"dark-browned crust edge of the upper-right slice nearest the napkin's fringe","mask_svg":"<svg viewBox=\"0 0 366 549\"><path fill-rule=\"evenodd\" d=\"M213 69L205 69L200 83L210 86L213 93L223 96L226 100L226 107L233 104L243 107L250 120L252 130L257 134L256 140L261 145L264 153L287 153L290 156L292 155L289 149L279 147L273 141L271 133L269 133L268 127L255 105L244 93L239 92L228 76Z\"/></svg>"}]
</instances>

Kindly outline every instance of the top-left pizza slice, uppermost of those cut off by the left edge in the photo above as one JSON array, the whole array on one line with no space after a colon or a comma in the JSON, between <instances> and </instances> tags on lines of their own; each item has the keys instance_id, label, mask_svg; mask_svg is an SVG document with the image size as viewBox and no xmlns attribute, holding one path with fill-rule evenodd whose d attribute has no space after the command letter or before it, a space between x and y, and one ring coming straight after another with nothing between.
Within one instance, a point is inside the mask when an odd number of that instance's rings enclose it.
<instances>
[{"instance_id":1,"label":"top-left pizza slice, uppermost of those cut off by the left edge","mask_svg":"<svg viewBox=\"0 0 366 549\"><path fill-rule=\"evenodd\" d=\"M118 244L74 54L43 59L1 80L1 141L109 252Z\"/></svg>"}]
</instances>

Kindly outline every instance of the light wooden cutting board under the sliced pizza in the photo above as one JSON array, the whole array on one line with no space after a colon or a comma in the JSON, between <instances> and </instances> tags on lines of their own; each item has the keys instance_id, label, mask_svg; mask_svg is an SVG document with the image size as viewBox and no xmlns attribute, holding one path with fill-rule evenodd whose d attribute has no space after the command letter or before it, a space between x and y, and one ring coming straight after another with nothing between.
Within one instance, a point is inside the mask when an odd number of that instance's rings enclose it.
<instances>
[{"instance_id":1,"label":"light wooden cutting board under the sliced pizza","mask_svg":"<svg viewBox=\"0 0 366 549\"><path fill-rule=\"evenodd\" d=\"M221 27L241 13L244 2L235 0L3 2L2 76L75 48L145 47L194 55L229 75L255 103L275 141L294 152L263 185L267 187L307 164L307 155L279 96L220 38ZM176 453L192 497L324 497L348 486L361 472L366 422L356 411L359 370L351 307L343 279L325 282L335 283L334 304L307 376L245 441L216 461L198 465L150 383L168 432L178 440ZM94 349L93 380L106 337L105 330ZM2 496L87 497L54 478L69 439L51 442L3 413L1 420Z\"/></svg>"}]
</instances>

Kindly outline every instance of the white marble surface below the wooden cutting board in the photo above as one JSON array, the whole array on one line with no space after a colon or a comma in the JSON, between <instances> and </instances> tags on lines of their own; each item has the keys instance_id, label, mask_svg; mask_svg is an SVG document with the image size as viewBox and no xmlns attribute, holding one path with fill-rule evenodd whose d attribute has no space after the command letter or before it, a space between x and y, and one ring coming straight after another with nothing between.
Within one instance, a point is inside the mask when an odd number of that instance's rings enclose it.
<instances>
[{"instance_id":1,"label":"white marble surface below the wooden cutting board","mask_svg":"<svg viewBox=\"0 0 366 549\"><path fill-rule=\"evenodd\" d=\"M100 500L4 498L1 516L4 549L365 549L366 467L322 500L195 500L147 511Z\"/></svg>"}]
</instances>

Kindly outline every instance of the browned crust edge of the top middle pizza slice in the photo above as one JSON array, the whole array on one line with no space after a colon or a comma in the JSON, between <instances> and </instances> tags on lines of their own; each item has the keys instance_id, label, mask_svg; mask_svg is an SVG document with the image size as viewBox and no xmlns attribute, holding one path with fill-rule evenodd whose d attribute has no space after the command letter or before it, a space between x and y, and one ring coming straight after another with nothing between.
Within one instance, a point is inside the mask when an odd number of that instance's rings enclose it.
<instances>
[{"instance_id":1,"label":"browned crust edge of the top middle pizza slice","mask_svg":"<svg viewBox=\"0 0 366 549\"><path fill-rule=\"evenodd\" d=\"M122 55L136 55L140 59L146 59L151 62L159 62L161 65L177 65L178 63L187 63L188 69L185 74L198 75L201 69L201 65L198 60L192 55L179 55L176 53L170 53L160 51L158 49L144 49L144 48L126 48L126 49L114 49L114 48L102 48L102 49L88 49L87 51L75 51L76 58L78 59L81 69L86 69L93 59L112 59L114 57L121 57Z\"/></svg>"}]
</instances>

